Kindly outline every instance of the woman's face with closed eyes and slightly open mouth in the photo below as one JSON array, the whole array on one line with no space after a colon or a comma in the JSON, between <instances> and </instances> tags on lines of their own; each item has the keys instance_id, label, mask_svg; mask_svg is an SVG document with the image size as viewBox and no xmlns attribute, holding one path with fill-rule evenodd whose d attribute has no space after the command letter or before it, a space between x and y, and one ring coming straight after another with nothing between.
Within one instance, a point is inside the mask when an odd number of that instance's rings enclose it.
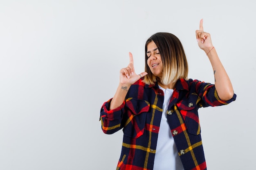
<instances>
[{"instance_id":1,"label":"woman's face with closed eyes and slightly open mouth","mask_svg":"<svg viewBox=\"0 0 256 170\"><path fill-rule=\"evenodd\" d=\"M163 63L155 42L151 41L148 43L147 48L148 67L155 76L162 78Z\"/></svg>"}]
</instances>

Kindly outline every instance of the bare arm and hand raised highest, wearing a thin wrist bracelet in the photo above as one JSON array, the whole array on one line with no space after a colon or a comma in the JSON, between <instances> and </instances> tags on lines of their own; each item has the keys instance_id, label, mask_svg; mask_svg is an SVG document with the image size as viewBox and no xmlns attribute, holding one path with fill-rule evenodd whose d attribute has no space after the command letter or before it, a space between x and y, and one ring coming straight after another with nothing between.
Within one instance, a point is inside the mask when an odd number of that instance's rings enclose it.
<instances>
[{"instance_id":1,"label":"bare arm and hand raised highest, wearing a thin wrist bracelet","mask_svg":"<svg viewBox=\"0 0 256 170\"><path fill-rule=\"evenodd\" d=\"M196 30L195 33L198 40L198 46L204 50L211 62L218 96L220 99L226 101L231 99L234 95L231 81L218 57L216 49L213 47L210 34L205 33L203 30L203 20L200 21L200 29Z\"/></svg>"}]
</instances>

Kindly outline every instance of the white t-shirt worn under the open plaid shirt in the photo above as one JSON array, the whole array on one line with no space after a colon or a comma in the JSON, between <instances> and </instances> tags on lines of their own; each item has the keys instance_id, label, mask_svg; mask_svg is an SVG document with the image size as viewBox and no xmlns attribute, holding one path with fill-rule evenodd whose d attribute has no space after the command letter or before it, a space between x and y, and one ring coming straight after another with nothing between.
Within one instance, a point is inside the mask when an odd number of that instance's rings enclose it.
<instances>
[{"instance_id":1,"label":"white t-shirt worn under the open plaid shirt","mask_svg":"<svg viewBox=\"0 0 256 170\"><path fill-rule=\"evenodd\" d=\"M167 109L173 94L173 89L164 89L163 113L159 127L157 148L155 153L154 170L184 170L170 126L167 122Z\"/></svg>"}]
</instances>

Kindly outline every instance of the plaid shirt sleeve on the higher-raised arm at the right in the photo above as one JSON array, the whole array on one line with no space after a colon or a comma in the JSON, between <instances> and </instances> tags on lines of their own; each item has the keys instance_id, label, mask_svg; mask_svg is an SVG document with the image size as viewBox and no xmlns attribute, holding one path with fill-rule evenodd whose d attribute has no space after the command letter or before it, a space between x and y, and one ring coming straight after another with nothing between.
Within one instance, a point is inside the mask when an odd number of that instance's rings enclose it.
<instances>
[{"instance_id":1,"label":"plaid shirt sleeve on the higher-raised arm at the right","mask_svg":"<svg viewBox=\"0 0 256 170\"><path fill-rule=\"evenodd\" d=\"M201 98L202 107L227 105L236 100L236 94L230 100L221 100L216 91L215 85L195 80L196 93Z\"/></svg>"}]
</instances>

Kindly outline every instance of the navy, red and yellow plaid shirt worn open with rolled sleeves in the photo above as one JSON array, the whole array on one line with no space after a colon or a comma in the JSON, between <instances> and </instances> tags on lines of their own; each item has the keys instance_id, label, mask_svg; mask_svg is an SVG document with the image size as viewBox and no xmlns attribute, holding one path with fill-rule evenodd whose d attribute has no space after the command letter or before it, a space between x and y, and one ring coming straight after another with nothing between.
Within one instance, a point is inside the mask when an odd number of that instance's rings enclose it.
<instances>
[{"instance_id":1,"label":"navy, red and yellow plaid shirt worn open with rolled sleeves","mask_svg":"<svg viewBox=\"0 0 256 170\"><path fill-rule=\"evenodd\" d=\"M220 100L215 86L198 80L177 81L168 105L167 120L185 170L205 170L198 109L227 105L236 99ZM111 99L101 107L104 133L123 128L124 138L117 170L153 170L164 93L142 79L134 83L123 104L109 110Z\"/></svg>"}]
</instances>

